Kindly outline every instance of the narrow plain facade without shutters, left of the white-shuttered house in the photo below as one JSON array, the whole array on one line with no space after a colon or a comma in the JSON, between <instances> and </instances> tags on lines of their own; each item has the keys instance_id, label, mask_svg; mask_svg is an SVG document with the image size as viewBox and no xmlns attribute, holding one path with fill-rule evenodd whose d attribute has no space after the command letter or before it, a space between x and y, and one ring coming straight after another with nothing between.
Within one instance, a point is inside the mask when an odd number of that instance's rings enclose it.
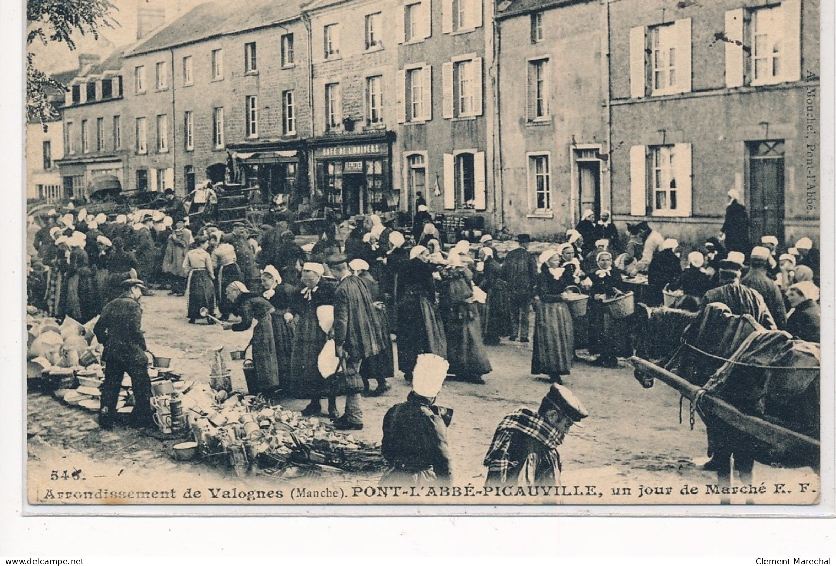
<instances>
[{"instance_id":1,"label":"narrow plain facade without shutters, left of the white-shuttered house","mask_svg":"<svg viewBox=\"0 0 836 566\"><path fill-rule=\"evenodd\" d=\"M606 10L597 0L497 9L498 216L555 235L610 203Z\"/></svg>"}]
</instances>

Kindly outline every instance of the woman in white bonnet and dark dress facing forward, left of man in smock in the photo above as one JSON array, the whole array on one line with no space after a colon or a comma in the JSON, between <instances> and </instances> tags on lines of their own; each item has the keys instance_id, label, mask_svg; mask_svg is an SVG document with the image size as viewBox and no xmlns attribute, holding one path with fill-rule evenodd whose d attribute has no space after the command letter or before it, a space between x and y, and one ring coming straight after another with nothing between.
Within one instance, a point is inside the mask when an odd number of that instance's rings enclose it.
<instances>
[{"instance_id":1,"label":"woman in white bonnet and dark dress facing forward, left of man in smock","mask_svg":"<svg viewBox=\"0 0 836 566\"><path fill-rule=\"evenodd\" d=\"M307 261L302 265L302 286L290 296L290 310L285 321L293 321L293 348L290 355L290 371L284 377L285 392L290 397L309 399L303 408L305 417L322 412L321 400L328 397L328 414L339 417L337 397L331 382L319 373L319 352L328 341L328 333L319 324L320 307L330 306L333 312L334 281L324 280L325 268L321 263ZM324 309L327 311L327 309ZM331 316L333 324L333 315Z\"/></svg>"}]
</instances>

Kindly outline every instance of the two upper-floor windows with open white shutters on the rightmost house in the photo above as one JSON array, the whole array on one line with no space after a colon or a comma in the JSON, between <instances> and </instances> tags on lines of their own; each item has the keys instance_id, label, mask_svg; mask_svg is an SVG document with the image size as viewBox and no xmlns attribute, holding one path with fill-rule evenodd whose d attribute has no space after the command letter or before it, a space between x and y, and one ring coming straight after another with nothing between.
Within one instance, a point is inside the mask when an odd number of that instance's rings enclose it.
<instances>
[{"instance_id":1,"label":"two upper-floor windows with open white shutters on the rightmost house","mask_svg":"<svg viewBox=\"0 0 836 566\"><path fill-rule=\"evenodd\" d=\"M721 35L721 38L717 36ZM801 0L726 12L726 87L801 78ZM630 96L691 92L691 18L630 29Z\"/></svg>"}]
</instances>

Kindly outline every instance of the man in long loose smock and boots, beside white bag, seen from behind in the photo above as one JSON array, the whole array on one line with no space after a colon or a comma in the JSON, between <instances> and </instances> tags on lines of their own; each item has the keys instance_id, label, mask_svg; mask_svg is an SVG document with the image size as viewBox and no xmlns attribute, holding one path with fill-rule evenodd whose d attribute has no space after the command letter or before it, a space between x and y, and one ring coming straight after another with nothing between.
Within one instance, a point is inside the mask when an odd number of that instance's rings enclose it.
<instances>
[{"instance_id":1,"label":"man in long loose smock and boots, beside white bag, seen from behind","mask_svg":"<svg viewBox=\"0 0 836 566\"><path fill-rule=\"evenodd\" d=\"M363 380L359 366L385 348L386 336L375 315L375 301L357 275L351 275L344 255L328 259L331 273L339 280L334 292L334 346L345 371L345 412L334 422L339 430L361 430L363 411L360 393Z\"/></svg>"}]
</instances>

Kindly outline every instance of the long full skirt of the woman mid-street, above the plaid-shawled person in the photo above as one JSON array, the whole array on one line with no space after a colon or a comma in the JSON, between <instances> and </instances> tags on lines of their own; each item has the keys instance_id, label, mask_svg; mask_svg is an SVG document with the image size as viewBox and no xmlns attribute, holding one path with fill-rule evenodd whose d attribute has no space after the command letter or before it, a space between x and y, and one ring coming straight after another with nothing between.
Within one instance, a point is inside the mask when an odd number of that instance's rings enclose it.
<instances>
[{"instance_id":1,"label":"long full skirt of the woman mid-street, above the plaid-shawled person","mask_svg":"<svg viewBox=\"0 0 836 566\"><path fill-rule=\"evenodd\" d=\"M459 377L477 377L493 369L482 344L482 323L475 303L458 306L446 316L449 373Z\"/></svg>"}]
</instances>

